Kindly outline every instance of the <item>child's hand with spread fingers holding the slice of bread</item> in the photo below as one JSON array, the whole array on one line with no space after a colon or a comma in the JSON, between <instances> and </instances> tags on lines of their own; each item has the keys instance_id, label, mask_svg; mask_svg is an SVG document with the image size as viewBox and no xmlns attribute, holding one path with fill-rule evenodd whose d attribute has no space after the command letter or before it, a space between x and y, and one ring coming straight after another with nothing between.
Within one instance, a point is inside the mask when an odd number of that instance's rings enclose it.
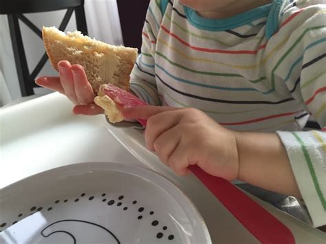
<instances>
[{"instance_id":1,"label":"child's hand with spread fingers holding the slice of bread","mask_svg":"<svg viewBox=\"0 0 326 244\"><path fill-rule=\"evenodd\" d=\"M67 96L76 105L73 110L76 114L103 113L103 110L94 104L94 91L82 66L71 65L68 61L62 60L58 63L58 69L60 77L40 77L36 84Z\"/></svg>"}]
</instances>

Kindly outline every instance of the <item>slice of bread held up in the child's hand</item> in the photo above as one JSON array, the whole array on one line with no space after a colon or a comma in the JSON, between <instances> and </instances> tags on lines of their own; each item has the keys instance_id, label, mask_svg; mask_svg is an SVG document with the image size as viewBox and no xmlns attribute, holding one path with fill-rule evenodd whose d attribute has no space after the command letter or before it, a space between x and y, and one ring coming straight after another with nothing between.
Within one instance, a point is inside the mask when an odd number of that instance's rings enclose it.
<instances>
[{"instance_id":1,"label":"slice of bread held up in the child's hand","mask_svg":"<svg viewBox=\"0 0 326 244\"><path fill-rule=\"evenodd\" d=\"M61 32L56 27L43 27L43 42L54 69L58 62L67 60L85 69L89 83L98 93L100 85L112 84L129 91L130 73L138 49L113 46L96 41L80 32Z\"/></svg>"}]
</instances>

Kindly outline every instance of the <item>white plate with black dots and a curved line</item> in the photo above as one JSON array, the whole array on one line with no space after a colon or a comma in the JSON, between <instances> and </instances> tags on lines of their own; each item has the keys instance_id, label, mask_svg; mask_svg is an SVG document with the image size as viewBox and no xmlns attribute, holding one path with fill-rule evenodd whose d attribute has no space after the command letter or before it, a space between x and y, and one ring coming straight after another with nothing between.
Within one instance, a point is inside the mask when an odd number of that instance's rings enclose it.
<instances>
[{"instance_id":1,"label":"white plate with black dots and a curved line","mask_svg":"<svg viewBox=\"0 0 326 244\"><path fill-rule=\"evenodd\" d=\"M0 243L211 243L193 203L145 168L74 164L1 190Z\"/></svg>"}]
</instances>

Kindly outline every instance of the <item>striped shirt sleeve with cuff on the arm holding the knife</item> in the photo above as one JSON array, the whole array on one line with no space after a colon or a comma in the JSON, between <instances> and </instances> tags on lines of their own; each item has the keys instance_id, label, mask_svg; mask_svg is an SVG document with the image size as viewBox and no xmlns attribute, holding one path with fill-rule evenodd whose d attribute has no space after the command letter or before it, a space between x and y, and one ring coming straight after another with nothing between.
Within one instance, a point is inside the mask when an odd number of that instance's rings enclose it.
<instances>
[{"instance_id":1,"label":"striped shirt sleeve with cuff on the arm holding the knife","mask_svg":"<svg viewBox=\"0 0 326 244\"><path fill-rule=\"evenodd\" d=\"M326 126L326 4L296 1L279 15L268 45L277 55L265 69L276 91ZM317 4L324 3L324 4ZM301 125L302 126L302 125ZM315 226L326 224L326 132L277 131Z\"/></svg>"}]
</instances>

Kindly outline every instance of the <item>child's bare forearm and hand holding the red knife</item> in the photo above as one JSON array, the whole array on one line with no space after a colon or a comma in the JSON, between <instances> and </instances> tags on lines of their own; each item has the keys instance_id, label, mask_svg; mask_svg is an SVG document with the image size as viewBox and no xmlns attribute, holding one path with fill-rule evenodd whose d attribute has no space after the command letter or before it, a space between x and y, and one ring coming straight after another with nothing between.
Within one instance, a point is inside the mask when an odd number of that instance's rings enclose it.
<instances>
[{"instance_id":1,"label":"child's bare forearm and hand holding the red knife","mask_svg":"<svg viewBox=\"0 0 326 244\"><path fill-rule=\"evenodd\" d=\"M178 175L189 173L188 166L197 164L210 175L301 197L275 133L230 131L197 109L148 106L124 109L122 114L148 120L147 148Z\"/></svg>"}]
</instances>

